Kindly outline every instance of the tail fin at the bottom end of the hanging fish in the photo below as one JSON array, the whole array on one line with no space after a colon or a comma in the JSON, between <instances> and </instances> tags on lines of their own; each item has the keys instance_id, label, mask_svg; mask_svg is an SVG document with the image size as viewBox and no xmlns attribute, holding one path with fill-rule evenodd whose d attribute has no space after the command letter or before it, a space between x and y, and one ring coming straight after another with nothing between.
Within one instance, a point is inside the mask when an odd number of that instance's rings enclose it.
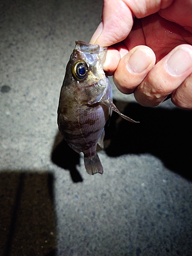
<instances>
[{"instance_id":1,"label":"tail fin at the bottom end of the hanging fish","mask_svg":"<svg viewBox=\"0 0 192 256\"><path fill-rule=\"evenodd\" d=\"M93 157L84 157L84 166L86 166L87 173L90 175L103 174L103 166L97 153Z\"/></svg>"}]
</instances>

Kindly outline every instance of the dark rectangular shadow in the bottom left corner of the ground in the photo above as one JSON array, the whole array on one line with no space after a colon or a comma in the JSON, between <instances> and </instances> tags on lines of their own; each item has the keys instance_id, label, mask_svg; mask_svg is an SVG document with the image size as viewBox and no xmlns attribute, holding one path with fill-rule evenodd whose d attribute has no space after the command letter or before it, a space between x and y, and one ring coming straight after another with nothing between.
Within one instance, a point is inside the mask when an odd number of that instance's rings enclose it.
<instances>
[{"instance_id":1,"label":"dark rectangular shadow in the bottom left corner of the ground","mask_svg":"<svg viewBox=\"0 0 192 256\"><path fill-rule=\"evenodd\" d=\"M53 175L0 173L1 255L56 256Z\"/></svg>"}]
</instances>

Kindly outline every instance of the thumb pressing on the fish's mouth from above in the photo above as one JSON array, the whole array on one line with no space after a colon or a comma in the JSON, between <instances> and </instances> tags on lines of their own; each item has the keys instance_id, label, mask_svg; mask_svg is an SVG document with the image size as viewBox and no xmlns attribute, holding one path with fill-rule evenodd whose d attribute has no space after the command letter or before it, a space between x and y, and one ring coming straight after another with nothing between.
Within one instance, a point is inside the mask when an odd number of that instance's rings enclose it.
<instances>
[{"instance_id":1,"label":"thumb pressing on the fish's mouth from above","mask_svg":"<svg viewBox=\"0 0 192 256\"><path fill-rule=\"evenodd\" d=\"M132 26L132 11L123 1L104 0L102 22L93 34L90 44L99 44L100 47L116 44L129 35Z\"/></svg>"}]
</instances>

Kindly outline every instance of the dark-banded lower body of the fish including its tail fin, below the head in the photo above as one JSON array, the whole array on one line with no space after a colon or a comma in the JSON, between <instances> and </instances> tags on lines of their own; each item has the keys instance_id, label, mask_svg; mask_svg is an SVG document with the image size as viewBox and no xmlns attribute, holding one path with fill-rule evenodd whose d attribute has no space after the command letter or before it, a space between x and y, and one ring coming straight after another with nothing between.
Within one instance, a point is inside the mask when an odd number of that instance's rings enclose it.
<instances>
[{"instance_id":1,"label":"dark-banded lower body of the fish including its tail fin, below the head","mask_svg":"<svg viewBox=\"0 0 192 256\"><path fill-rule=\"evenodd\" d=\"M108 118L109 108L99 103L77 105L76 111L68 112L68 117L62 118L66 120L61 127L63 136L74 151L83 152L89 174L103 173L96 147Z\"/></svg>"}]
</instances>

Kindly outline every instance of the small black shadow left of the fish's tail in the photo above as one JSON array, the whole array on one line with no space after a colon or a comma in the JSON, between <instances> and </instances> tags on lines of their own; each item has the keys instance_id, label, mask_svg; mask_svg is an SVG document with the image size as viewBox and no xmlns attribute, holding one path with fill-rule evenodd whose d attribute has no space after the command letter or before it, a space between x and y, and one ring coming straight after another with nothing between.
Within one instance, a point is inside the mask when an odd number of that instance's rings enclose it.
<instances>
[{"instance_id":1,"label":"small black shadow left of the fish's tail","mask_svg":"<svg viewBox=\"0 0 192 256\"><path fill-rule=\"evenodd\" d=\"M80 155L72 150L72 148L62 138L59 131L55 137L51 160L59 167L68 169L73 182L77 183L83 181L76 168L80 163Z\"/></svg>"}]
</instances>

